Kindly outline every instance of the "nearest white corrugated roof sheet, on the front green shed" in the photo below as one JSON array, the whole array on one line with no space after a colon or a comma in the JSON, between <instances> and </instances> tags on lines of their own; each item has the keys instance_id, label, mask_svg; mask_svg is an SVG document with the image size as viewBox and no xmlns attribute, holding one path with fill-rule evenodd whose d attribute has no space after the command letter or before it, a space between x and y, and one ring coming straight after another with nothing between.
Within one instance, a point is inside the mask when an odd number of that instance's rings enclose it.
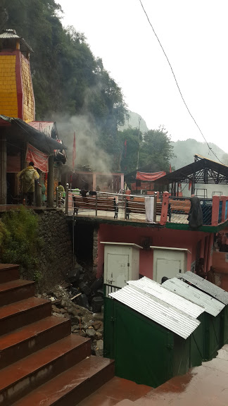
<instances>
[{"instance_id":1,"label":"nearest white corrugated roof sheet, on the front green shed","mask_svg":"<svg viewBox=\"0 0 228 406\"><path fill-rule=\"evenodd\" d=\"M148 317L148 319L155 321L160 324L160 326L167 328L185 340L200 324L200 322L193 317L179 312L175 307L167 305L167 303L157 297L152 297L148 295L148 293L138 290L133 285L127 285L116 292L110 293L109 296L134 309L136 312L143 314Z\"/></svg>"}]
</instances>

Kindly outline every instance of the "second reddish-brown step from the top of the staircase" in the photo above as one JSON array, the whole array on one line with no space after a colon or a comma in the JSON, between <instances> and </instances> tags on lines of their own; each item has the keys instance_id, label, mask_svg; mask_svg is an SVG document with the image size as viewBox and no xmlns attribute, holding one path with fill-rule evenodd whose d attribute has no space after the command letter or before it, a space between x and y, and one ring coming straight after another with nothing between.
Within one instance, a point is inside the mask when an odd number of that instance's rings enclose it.
<instances>
[{"instance_id":1,"label":"second reddish-brown step from the top of the staircase","mask_svg":"<svg viewBox=\"0 0 228 406\"><path fill-rule=\"evenodd\" d=\"M32 296L34 296L34 281L15 279L0 283L0 306L9 305Z\"/></svg>"}]
</instances>

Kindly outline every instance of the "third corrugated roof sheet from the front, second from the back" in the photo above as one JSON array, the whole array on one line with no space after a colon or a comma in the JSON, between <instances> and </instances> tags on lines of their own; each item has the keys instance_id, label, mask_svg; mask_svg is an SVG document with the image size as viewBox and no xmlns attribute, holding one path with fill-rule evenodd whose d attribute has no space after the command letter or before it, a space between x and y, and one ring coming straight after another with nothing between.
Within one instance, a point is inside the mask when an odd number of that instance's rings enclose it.
<instances>
[{"instance_id":1,"label":"third corrugated roof sheet from the front, second from the back","mask_svg":"<svg viewBox=\"0 0 228 406\"><path fill-rule=\"evenodd\" d=\"M168 279L163 283L163 286L165 289L174 292L179 296L185 297L185 299L190 300L190 302L203 307L205 312L212 314L212 316L217 316L217 314L219 314L224 308L224 304L216 300L214 297L194 288L194 286L188 285L178 278Z\"/></svg>"}]
</instances>

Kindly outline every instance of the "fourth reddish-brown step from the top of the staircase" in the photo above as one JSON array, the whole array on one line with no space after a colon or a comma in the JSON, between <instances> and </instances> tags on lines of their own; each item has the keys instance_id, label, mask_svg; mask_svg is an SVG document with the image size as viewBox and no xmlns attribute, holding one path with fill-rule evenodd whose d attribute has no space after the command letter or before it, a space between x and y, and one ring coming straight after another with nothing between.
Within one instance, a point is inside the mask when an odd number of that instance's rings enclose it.
<instances>
[{"instance_id":1,"label":"fourth reddish-brown step from the top of the staircase","mask_svg":"<svg viewBox=\"0 0 228 406\"><path fill-rule=\"evenodd\" d=\"M0 369L69 335L69 319L49 316L0 336Z\"/></svg>"}]
</instances>

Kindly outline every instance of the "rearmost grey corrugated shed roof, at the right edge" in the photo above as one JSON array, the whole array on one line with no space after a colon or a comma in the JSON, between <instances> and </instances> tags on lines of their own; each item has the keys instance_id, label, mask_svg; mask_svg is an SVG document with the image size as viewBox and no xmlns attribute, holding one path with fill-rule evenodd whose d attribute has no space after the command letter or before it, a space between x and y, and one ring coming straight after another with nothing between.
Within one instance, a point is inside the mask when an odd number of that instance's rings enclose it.
<instances>
[{"instance_id":1,"label":"rearmost grey corrugated shed roof, at the right edge","mask_svg":"<svg viewBox=\"0 0 228 406\"><path fill-rule=\"evenodd\" d=\"M228 305L228 292L219 288L219 286L214 285L214 283L201 278L201 276L196 275L196 273L187 271L185 273L178 274L177 278L185 279L185 281L190 282L192 285L203 290L203 292L208 293L217 300L220 300L220 302L224 303L224 305Z\"/></svg>"}]
</instances>

